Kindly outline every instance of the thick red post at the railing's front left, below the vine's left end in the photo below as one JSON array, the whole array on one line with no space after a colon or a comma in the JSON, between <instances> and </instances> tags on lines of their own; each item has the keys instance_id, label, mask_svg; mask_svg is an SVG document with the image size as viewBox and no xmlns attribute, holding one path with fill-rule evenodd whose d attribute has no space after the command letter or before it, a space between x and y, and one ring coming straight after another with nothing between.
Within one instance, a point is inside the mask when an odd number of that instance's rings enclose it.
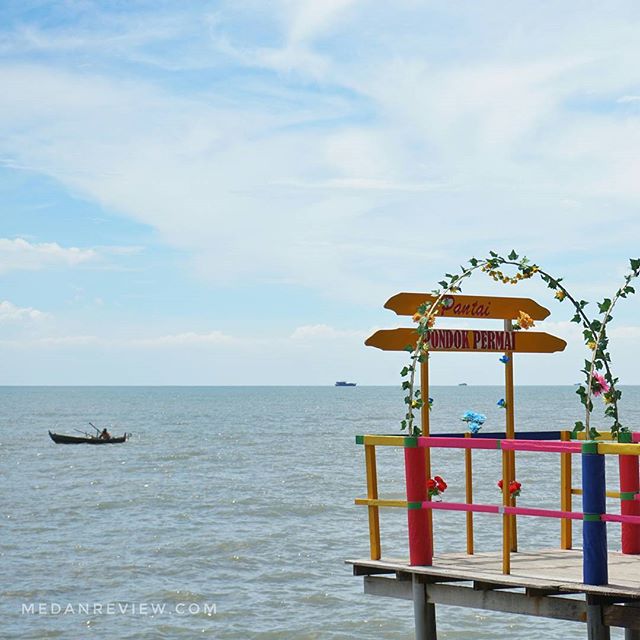
<instances>
[{"instance_id":1,"label":"thick red post at the railing's front left, below the vine's left end","mask_svg":"<svg viewBox=\"0 0 640 640\"><path fill-rule=\"evenodd\" d=\"M433 544L429 531L429 512L422 508L422 503L427 500L427 468L423 448L405 447L404 471L409 503L409 564L430 566L433 562Z\"/></svg>"}]
</instances>

